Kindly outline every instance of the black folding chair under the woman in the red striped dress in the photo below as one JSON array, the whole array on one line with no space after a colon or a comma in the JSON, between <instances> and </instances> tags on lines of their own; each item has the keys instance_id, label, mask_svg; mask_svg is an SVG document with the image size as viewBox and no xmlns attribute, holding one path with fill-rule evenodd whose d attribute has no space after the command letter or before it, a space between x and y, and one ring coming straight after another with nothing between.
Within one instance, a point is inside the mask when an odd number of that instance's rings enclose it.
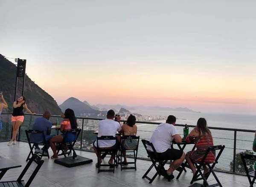
<instances>
[{"instance_id":1,"label":"black folding chair under the woman in the red striped dress","mask_svg":"<svg viewBox=\"0 0 256 187\"><path fill-rule=\"evenodd\" d=\"M195 181L204 180L204 185L203 185L204 187L206 187L206 186L207 187L215 187L215 186L222 187L221 182L218 180L218 177L216 176L216 174L213 171L213 168L214 168L215 164L218 164L218 159L220 158L221 153L223 152L224 148L225 148L225 145L215 145L215 146L212 146L212 147L208 147L208 149L207 149L207 151L206 151L202 161L200 163L194 163L195 167L197 168L197 170L196 170L195 176L193 176L190 184L192 184ZM213 163L205 162L205 159L206 159L207 155L209 154L209 152L216 152L217 150L219 150L219 152L218 152L218 155L215 157L215 161L213 161ZM201 168L203 167L203 165L207 165L209 167L210 171L207 174L207 176L204 176L202 171L201 171ZM214 176L214 178L217 181L217 183L209 185L208 182L207 182L207 179L209 178L209 175L211 173Z\"/></svg>"}]
</instances>

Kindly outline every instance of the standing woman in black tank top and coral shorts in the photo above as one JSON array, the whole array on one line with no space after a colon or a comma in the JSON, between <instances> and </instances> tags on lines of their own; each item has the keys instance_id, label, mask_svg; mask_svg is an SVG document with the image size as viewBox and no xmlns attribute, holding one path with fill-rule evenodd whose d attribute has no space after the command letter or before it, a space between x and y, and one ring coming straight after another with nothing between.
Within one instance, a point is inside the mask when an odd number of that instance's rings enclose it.
<instances>
[{"instance_id":1,"label":"standing woman in black tank top and coral shorts","mask_svg":"<svg viewBox=\"0 0 256 187\"><path fill-rule=\"evenodd\" d=\"M19 130L20 125L23 123L24 120L24 113L23 109L25 109L28 113L34 115L27 105L26 105L26 98L24 96L20 96L17 101L13 103L13 113L12 113L12 139L8 143L8 145L16 144L16 136Z\"/></svg>"}]
</instances>

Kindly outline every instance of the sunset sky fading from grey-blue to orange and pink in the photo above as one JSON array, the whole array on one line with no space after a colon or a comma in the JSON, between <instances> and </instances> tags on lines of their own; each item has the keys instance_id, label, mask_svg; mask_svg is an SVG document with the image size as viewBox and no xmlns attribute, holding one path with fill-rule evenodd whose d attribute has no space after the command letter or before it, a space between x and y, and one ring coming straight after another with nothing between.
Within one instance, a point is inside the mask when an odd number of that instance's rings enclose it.
<instances>
[{"instance_id":1,"label":"sunset sky fading from grey-blue to orange and pink","mask_svg":"<svg viewBox=\"0 0 256 187\"><path fill-rule=\"evenodd\" d=\"M256 1L0 1L0 54L58 104L256 115ZM10 59L12 61L12 59Z\"/></svg>"}]
</instances>

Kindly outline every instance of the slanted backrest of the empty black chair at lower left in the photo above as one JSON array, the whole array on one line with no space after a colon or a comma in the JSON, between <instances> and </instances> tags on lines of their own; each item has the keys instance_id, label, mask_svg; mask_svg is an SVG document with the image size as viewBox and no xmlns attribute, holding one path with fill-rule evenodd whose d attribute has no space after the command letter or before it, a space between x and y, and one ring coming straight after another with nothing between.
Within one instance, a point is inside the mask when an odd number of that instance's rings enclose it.
<instances>
[{"instance_id":1,"label":"slanted backrest of the empty black chair at lower left","mask_svg":"<svg viewBox=\"0 0 256 187\"><path fill-rule=\"evenodd\" d=\"M40 156L38 156L37 154L33 154L32 158L29 160L29 162L26 164L23 171L20 173L20 176L17 179L17 181L22 180L23 176L26 174L27 170L29 169L29 167L30 167L30 165L32 164L33 161L37 164L37 167L35 168L35 170L31 174L31 176L29 177L29 180L26 182L26 185L24 187L29 187L29 185L32 183L33 179L35 178L36 174L40 170L41 166L44 164L44 161L41 160Z\"/></svg>"}]
</instances>

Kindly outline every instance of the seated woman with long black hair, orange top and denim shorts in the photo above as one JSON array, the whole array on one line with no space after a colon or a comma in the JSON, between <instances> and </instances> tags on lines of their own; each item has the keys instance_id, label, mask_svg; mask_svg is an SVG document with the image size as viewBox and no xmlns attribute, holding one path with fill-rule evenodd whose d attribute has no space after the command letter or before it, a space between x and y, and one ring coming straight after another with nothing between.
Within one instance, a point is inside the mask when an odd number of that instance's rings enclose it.
<instances>
[{"instance_id":1,"label":"seated woman with long black hair, orange top and denim shorts","mask_svg":"<svg viewBox=\"0 0 256 187\"><path fill-rule=\"evenodd\" d=\"M67 131L71 129L76 129L76 128L77 128L77 123L76 123L75 113L72 109L68 108L64 113L64 120L61 122L60 131L62 134L58 136L53 136L49 140L50 147L52 148L52 152L53 152L51 159L58 158L55 143L63 142L64 136L66 136L66 139L65 139L66 142L73 142L76 139L76 134L67 133Z\"/></svg>"}]
</instances>

